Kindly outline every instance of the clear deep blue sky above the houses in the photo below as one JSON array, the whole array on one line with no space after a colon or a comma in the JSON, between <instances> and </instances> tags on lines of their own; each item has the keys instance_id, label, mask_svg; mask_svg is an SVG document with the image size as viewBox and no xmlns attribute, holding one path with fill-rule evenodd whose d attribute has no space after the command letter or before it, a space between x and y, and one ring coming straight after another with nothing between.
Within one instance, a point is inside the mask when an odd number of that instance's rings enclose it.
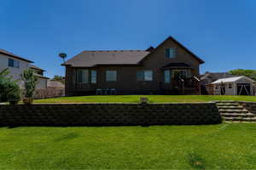
<instances>
[{"instance_id":1,"label":"clear deep blue sky above the houses","mask_svg":"<svg viewBox=\"0 0 256 170\"><path fill-rule=\"evenodd\" d=\"M64 75L58 54L146 49L172 36L204 71L256 69L254 0L1 0L0 48Z\"/></svg>"}]
</instances>

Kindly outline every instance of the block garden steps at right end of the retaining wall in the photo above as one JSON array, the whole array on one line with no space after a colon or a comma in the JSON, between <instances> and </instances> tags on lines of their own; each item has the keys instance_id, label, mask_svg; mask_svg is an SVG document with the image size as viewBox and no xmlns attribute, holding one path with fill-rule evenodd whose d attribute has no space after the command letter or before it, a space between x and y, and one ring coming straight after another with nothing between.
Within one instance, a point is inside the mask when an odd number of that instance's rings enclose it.
<instances>
[{"instance_id":1,"label":"block garden steps at right end of the retaining wall","mask_svg":"<svg viewBox=\"0 0 256 170\"><path fill-rule=\"evenodd\" d=\"M218 111L224 122L255 122L256 115L247 111L236 101L216 101Z\"/></svg>"}]
</instances>

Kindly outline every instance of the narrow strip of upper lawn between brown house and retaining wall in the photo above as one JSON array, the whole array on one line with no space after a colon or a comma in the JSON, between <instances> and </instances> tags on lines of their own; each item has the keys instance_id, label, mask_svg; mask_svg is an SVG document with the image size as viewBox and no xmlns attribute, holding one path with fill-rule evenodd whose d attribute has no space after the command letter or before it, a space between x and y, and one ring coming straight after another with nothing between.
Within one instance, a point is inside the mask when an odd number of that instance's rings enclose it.
<instances>
[{"instance_id":1,"label":"narrow strip of upper lawn between brown house and retaining wall","mask_svg":"<svg viewBox=\"0 0 256 170\"><path fill-rule=\"evenodd\" d=\"M255 101L256 96L218 96L218 95L112 95L78 96L55 99L37 99L35 103L85 103L85 102L129 102L137 103L140 97L148 97L152 103L165 102L209 102L213 100Z\"/></svg>"}]
</instances>

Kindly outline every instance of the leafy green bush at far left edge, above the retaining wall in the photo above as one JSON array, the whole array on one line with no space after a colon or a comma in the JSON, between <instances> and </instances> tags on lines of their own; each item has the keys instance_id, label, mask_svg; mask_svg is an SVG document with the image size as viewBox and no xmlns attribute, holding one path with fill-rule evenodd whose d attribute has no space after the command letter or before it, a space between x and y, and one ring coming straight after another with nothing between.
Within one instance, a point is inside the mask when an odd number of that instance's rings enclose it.
<instances>
[{"instance_id":1,"label":"leafy green bush at far left edge, above the retaining wall","mask_svg":"<svg viewBox=\"0 0 256 170\"><path fill-rule=\"evenodd\" d=\"M8 69L0 72L0 102L6 102L9 99L20 99L20 87L17 82L12 81Z\"/></svg>"}]
</instances>

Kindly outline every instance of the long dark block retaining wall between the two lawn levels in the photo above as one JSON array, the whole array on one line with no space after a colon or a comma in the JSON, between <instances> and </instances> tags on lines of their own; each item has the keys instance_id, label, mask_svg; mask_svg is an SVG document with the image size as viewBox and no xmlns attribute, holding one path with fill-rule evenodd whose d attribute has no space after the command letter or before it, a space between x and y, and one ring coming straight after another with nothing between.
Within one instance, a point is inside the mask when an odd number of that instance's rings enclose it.
<instances>
[{"instance_id":1,"label":"long dark block retaining wall between the two lawn levels","mask_svg":"<svg viewBox=\"0 0 256 170\"><path fill-rule=\"evenodd\" d=\"M222 122L215 103L0 105L0 126L199 125Z\"/></svg>"}]
</instances>

